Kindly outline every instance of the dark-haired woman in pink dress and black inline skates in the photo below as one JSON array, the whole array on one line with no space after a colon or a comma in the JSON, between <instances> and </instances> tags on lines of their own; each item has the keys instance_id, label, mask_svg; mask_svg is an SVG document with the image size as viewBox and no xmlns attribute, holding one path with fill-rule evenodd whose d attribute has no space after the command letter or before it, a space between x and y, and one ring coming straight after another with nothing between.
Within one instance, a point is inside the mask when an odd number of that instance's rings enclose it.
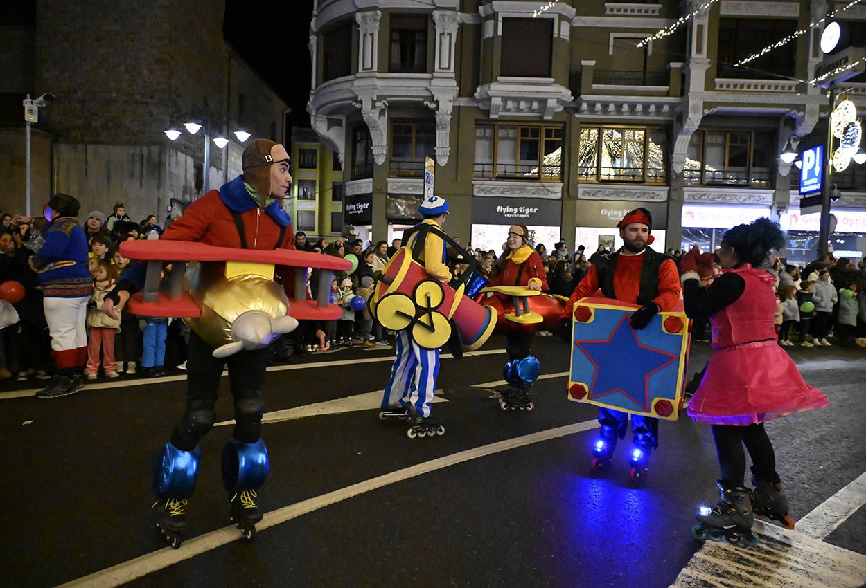
<instances>
[{"instance_id":1,"label":"dark-haired woman in pink dress and black inline skates","mask_svg":"<svg viewBox=\"0 0 866 588\"><path fill-rule=\"evenodd\" d=\"M693 529L699 539L710 532L733 542L757 540L749 530L753 514L793 527L764 422L829 404L776 342L775 276L765 268L784 244L779 226L759 219L725 233L719 253L722 272L714 280L708 253L693 251L682 259L686 313L709 317L716 350L688 404L688 416L712 425L721 469L721 502L701 509L701 525ZM744 486L743 445L753 462L751 492Z\"/></svg>"}]
</instances>

